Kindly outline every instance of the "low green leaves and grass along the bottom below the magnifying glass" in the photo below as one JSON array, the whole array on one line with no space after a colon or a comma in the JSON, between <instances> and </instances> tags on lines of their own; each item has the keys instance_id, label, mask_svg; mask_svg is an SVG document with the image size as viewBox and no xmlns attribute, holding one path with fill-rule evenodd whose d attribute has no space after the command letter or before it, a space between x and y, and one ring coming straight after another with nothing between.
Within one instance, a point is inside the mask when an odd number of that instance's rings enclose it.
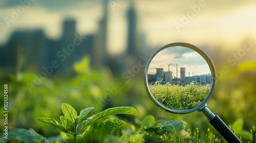
<instances>
[{"instance_id":1,"label":"low green leaves and grass along the bottom below the magnifying glass","mask_svg":"<svg viewBox=\"0 0 256 143\"><path fill-rule=\"evenodd\" d=\"M141 124L141 131L130 135L130 137L125 134L121 139L129 142L227 142L223 137L216 136L209 128L205 132L205 136L202 137L200 137L199 128L191 133L189 129L185 130L186 123L184 121L171 120L165 122L159 120L159 116L155 118L148 115ZM255 127L252 127L249 139L241 136L239 138L242 142L256 143ZM118 141L122 142L122 140Z\"/></svg>"}]
</instances>

